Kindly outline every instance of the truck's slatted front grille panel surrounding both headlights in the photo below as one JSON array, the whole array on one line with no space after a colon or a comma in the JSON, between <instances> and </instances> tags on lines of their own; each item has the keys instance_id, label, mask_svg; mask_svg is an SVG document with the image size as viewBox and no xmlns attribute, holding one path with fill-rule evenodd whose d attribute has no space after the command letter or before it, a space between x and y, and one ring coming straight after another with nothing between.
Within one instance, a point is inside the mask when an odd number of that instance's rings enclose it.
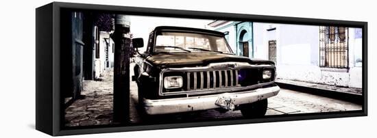
<instances>
[{"instance_id":1,"label":"truck's slatted front grille panel surrounding both headlights","mask_svg":"<svg viewBox=\"0 0 377 138\"><path fill-rule=\"evenodd\" d=\"M246 87L273 81L274 78L262 79L263 68L243 68L228 70L200 70L189 72L165 72L162 76L182 76L183 86L175 89L165 89L162 93L196 92L200 90L217 90L229 87ZM275 74L274 69L272 76ZM162 78L163 78L162 77Z\"/></svg>"}]
</instances>

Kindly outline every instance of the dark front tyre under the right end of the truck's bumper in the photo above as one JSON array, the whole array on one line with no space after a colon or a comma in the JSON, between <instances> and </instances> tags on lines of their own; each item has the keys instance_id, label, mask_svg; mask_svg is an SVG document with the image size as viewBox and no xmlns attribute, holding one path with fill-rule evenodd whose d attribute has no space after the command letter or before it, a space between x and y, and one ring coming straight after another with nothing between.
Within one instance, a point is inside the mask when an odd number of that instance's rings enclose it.
<instances>
[{"instance_id":1,"label":"dark front tyre under the right end of the truck's bumper","mask_svg":"<svg viewBox=\"0 0 377 138\"><path fill-rule=\"evenodd\" d=\"M266 114L267 99L250 104L240 105L241 113L245 118L260 118Z\"/></svg>"}]
</instances>

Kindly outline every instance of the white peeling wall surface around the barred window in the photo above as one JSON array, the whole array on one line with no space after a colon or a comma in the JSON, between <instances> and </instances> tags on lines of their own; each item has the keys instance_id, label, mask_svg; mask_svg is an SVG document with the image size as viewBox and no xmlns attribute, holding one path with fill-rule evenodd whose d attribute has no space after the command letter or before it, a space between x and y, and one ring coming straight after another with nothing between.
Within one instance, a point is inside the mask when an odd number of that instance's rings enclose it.
<instances>
[{"instance_id":1,"label":"white peeling wall surface around the barred window","mask_svg":"<svg viewBox=\"0 0 377 138\"><path fill-rule=\"evenodd\" d=\"M276 40L278 79L361 87L361 38L354 32L349 29L349 69L319 67L318 26L254 23L254 55L269 59L268 42Z\"/></svg>"}]
</instances>

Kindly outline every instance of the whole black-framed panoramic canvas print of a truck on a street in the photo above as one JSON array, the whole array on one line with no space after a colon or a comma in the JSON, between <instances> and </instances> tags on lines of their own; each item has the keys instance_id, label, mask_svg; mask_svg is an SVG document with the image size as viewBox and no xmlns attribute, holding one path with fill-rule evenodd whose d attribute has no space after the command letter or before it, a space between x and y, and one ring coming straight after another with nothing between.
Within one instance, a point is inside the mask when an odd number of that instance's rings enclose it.
<instances>
[{"instance_id":1,"label":"whole black-framed panoramic canvas print of a truck on a street","mask_svg":"<svg viewBox=\"0 0 377 138\"><path fill-rule=\"evenodd\" d=\"M36 129L49 135L366 115L366 22L36 8Z\"/></svg>"}]
</instances>

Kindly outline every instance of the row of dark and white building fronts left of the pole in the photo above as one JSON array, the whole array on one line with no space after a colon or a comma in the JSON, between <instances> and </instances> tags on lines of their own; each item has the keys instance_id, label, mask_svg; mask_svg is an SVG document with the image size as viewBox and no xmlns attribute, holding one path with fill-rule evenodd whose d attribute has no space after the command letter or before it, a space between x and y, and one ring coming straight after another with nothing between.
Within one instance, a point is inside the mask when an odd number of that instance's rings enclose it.
<instances>
[{"instance_id":1,"label":"row of dark and white building fronts left of the pole","mask_svg":"<svg viewBox=\"0 0 377 138\"><path fill-rule=\"evenodd\" d=\"M101 31L90 12L64 12L62 18L69 24L62 25L62 65L72 70L62 74L62 81L71 82L63 87L66 102L80 98L84 80L97 80L104 70L114 67L114 41L112 31Z\"/></svg>"}]
</instances>

